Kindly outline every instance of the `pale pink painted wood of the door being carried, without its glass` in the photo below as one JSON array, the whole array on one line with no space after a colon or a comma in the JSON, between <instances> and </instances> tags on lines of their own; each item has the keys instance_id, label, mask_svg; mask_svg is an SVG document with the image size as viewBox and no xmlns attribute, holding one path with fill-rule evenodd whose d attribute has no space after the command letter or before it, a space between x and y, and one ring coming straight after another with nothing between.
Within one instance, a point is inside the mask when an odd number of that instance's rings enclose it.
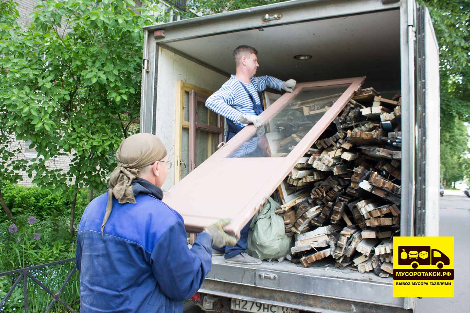
<instances>
[{"instance_id":1,"label":"pale pink painted wood of the door being carried, without its glass","mask_svg":"<svg viewBox=\"0 0 470 313\"><path fill-rule=\"evenodd\" d=\"M364 80L365 77L353 77L297 84L294 92L284 93L259 115L263 125L281 112L304 88L349 86L286 157L229 158L240 145L255 135L256 128L248 125L176 184L172 192L165 196L165 203L183 216L187 231L201 231L220 219L230 218L230 224L224 229L239 233L289 174L297 160L360 89Z\"/></svg>"}]
</instances>

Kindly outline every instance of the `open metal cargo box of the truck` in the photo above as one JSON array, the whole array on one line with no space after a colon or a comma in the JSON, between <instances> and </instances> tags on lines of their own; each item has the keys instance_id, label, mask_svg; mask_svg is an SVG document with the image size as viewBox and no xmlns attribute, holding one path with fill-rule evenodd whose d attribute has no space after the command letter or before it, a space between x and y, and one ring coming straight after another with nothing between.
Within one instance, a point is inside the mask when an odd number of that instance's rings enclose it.
<instances>
[{"instance_id":1,"label":"open metal cargo box of the truck","mask_svg":"<svg viewBox=\"0 0 470 313\"><path fill-rule=\"evenodd\" d=\"M366 76L363 88L389 97L401 92L400 234L439 234L439 46L427 9L413 0L296 0L146 27L141 131L160 137L174 160L164 190L190 168L189 98L218 90L234 74L239 45L258 49L257 76L298 82ZM294 58L300 54L312 58ZM205 157L220 138L205 143ZM202 159L192 158L191 166ZM210 186L203 196L211 196ZM314 312L415 306L415 298L392 297L391 277L338 270L323 260L306 269L286 261L249 267L212 260L200 290L206 294Z\"/></svg>"}]
</instances>

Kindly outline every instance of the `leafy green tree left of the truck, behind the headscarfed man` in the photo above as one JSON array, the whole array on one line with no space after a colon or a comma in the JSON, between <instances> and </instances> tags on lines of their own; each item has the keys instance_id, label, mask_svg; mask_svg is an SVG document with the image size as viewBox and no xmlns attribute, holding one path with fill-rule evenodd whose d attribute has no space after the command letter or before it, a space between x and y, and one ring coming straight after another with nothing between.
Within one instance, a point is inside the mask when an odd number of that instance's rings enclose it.
<instances>
[{"instance_id":1,"label":"leafy green tree left of the truck, behind the headscarfed man","mask_svg":"<svg viewBox=\"0 0 470 313\"><path fill-rule=\"evenodd\" d=\"M113 153L138 131L142 27L157 22L146 12L132 0L47 0L28 29L3 23L1 124L36 149L33 183L64 189L75 179L71 199L85 186L105 190ZM62 155L67 173L47 166Z\"/></svg>"}]
</instances>

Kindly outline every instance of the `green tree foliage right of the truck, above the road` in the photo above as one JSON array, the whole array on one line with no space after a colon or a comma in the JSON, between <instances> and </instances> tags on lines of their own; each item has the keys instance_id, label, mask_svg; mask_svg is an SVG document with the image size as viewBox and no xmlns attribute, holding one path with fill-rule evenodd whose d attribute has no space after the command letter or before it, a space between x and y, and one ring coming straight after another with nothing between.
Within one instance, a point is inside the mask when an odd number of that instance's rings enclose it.
<instances>
[{"instance_id":1,"label":"green tree foliage right of the truck, above the road","mask_svg":"<svg viewBox=\"0 0 470 313\"><path fill-rule=\"evenodd\" d=\"M427 0L440 46L441 179L470 178L470 0Z\"/></svg>"}]
</instances>

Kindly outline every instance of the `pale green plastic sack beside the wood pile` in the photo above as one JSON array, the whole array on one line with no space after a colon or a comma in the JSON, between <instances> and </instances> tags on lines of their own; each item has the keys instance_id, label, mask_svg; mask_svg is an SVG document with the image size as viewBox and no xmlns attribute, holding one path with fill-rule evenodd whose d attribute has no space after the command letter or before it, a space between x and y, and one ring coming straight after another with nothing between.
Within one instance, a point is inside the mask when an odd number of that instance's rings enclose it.
<instances>
[{"instance_id":1,"label":"pale green plastic sack beside the wood pile","mask_svg":"<svg viewBox=\"0 0 470 313\"><path fill-rule=\"evenodd\" d=\"M247 252L255 258L280 259L290 253L292 237L286 236L282 215L274 213L278 206L268 198L261 213L251 221Z\"/></svg>"}]
</instances>

